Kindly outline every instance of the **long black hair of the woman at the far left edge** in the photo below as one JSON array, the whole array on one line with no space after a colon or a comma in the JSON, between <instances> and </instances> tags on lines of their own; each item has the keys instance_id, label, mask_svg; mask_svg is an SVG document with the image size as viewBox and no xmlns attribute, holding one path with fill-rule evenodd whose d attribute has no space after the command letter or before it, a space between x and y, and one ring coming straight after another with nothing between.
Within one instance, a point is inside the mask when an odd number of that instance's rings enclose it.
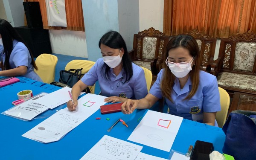
<instances>
[{"instance_id":1,"label":"long black hair of the woman at the far left edge","mask_svg":"<svg viewBox=\"0 0 256 160\"><path fill-rule=\"evenodd\" d=\"M23 41L23 39L20 37L17 31L12 27L12 25L4 19L0 19L0 34L2 35L2 40L3 40L3 53L5 53L6 55L4 64L1 63L1 67L2 67L2 70L9 70L11 69L9 60L10 60L10 55L13 49L12 41L13 40L20 41L28 49L29 47L26 45L26 43ZM29 49L29 54L31 56L32 65L37 70L38 68L35 65L35 61L30 49Z\"/></svg>"}]
</instances>

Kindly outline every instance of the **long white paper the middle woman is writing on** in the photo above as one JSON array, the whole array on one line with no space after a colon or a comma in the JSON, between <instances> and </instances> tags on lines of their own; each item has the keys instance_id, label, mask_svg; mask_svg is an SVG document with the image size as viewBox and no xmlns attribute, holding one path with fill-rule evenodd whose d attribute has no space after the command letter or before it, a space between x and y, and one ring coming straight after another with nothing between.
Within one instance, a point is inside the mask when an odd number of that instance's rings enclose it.
<instances>
[{"instance_id":1,"label":"long white paper the middle woman is writing on","mask_svg":"<svg viewBox=\"0 0 256 160\"><path fill-rule=\"evenodd\" d=\"M69 111L64 108L22 136L41 143L58 141L96 112L101 105L104 105L105 98L105 96L88 93L78 100L79 109L77 111ZM90 107L84 106L84 104L90 104Z\"/></svg>"}]
</instances>

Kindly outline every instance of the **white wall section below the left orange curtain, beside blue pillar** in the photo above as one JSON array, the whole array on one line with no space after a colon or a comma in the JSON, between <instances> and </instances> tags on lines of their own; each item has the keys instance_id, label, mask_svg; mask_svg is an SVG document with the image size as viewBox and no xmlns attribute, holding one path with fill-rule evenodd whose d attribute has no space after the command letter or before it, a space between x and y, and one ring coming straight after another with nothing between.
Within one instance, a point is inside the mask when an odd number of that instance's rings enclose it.
<instances>
[{"instance_id":1,"label":"white wall section below the left orange curtain, beside blue pillar","mask_svg":"<svg viewBox=\"0 0 256 160\"><path fill-rule=\"evenodd\" d=\"M85 33L69 30L49 30L52 52L88 58Z\"/></svg>"}]
</instances>

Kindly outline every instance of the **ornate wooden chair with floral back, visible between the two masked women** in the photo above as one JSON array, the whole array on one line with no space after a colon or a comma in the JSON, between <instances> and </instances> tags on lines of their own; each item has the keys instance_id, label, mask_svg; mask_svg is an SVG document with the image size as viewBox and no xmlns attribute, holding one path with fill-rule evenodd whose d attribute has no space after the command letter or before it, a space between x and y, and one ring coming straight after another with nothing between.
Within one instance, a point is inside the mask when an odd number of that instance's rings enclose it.
<instances>
[{"instance_id":1,"label":"ornate wooden chair with floral back, visible between the two masked women","mask_svg":"<svg viewBox=\"0 0 256 160\"><path fill-rule=\"evenodd\" d=\"M170 36L150 27L134 35L133 49L129 52L132 61L157 75L156 62L166 52Z\"/></svg>"}]
</instances>

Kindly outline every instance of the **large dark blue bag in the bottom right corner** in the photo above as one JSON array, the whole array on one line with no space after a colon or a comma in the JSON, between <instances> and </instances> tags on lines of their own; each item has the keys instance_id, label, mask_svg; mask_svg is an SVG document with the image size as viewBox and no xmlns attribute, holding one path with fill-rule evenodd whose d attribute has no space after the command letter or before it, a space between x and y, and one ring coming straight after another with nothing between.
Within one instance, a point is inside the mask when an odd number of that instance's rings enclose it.
<instances>
[{"instance_id":1,"label":"large dark blue bag in the bottom right corner","mask_svg":"<svg viewBox=\"0 0 256 160\"><path fill-rule=\"evenodd\" d=\"M222 130L226 134L224 154L235 160L256 160L256 112L232 111Z\"/></svg>"}]
</instances>

